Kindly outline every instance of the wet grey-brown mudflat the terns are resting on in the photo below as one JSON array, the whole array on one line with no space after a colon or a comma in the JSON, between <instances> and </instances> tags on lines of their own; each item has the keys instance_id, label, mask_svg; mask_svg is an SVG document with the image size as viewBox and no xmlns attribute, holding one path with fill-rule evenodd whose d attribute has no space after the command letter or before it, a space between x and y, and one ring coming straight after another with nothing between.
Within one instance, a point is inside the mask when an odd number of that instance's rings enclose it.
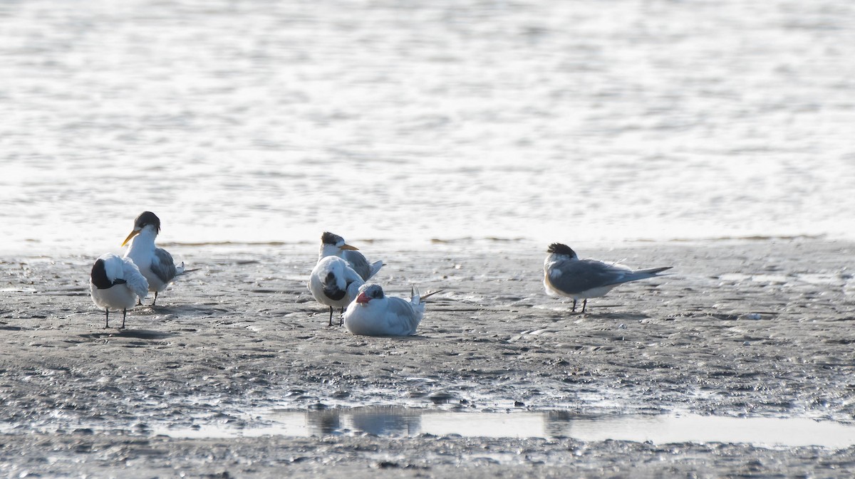
<instances>
[{"instance_id":1,"label":"wet grey-brown mudflat the terns are resting on","mask_svg":"<svg viewBox=\"0 0 855 479\"><path fill-rule=\"evenodd\" d=\"M354 240L355 243L357 241ZM0 474L315 477L850 477L855 447L412 438L345 433L181 438L263 427L253 412L351 406L591 414L855 418L855 244L636 243L582 256L675 274L585 315L546 296L544 247L360 244L387 293L445 289L419 336L327 327L315 244L184 246L198 268L157 307L103 329L97 254L2 258ZM380 252L384 254L380 254ZM150 302L150 299L146 302ZM111 324L121 323L114 315Z\"/></svg>"}]
</instances>

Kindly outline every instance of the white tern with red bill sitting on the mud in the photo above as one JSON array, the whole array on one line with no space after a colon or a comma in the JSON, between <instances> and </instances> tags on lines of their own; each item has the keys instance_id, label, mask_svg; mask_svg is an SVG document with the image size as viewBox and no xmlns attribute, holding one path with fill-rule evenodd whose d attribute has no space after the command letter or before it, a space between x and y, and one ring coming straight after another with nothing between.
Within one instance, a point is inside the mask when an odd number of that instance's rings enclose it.
<instances>
[{"instance_id":1,"label":"white tern with red bill sitting on the mud","mask_svg":"<svg viewBox=\"0 0 855 479\"><path fill-rule=\"evenodd\" d=\"M425 299L439 291L419 295L411 289L410 301L386 296L380 284L366 283L345 311L345 329L359 336L412 336L425 314Z\"/></svg>"}]
</instances>

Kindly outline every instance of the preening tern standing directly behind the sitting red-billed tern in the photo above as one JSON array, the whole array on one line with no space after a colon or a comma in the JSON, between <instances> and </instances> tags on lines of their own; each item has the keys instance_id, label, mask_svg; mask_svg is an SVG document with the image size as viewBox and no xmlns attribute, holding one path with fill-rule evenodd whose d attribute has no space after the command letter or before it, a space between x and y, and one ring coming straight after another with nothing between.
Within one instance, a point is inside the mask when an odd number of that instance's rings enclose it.
<instances>
[{"instance_id":1,"label":"preening tern standing directly behind the sitting red-billed tern","mask_svg":"<svg viewBox=\"0 0 855 479\"><path fill-rule=\"evenodd\" d=\"M359 294L365 283L353 268L338 256L318 260L309 277L309 290L315 301L329 307L329 325L333 325L333 307L342 310ZM339 321L339 325L341 322Z\"/></svg>"}]
</instances>

